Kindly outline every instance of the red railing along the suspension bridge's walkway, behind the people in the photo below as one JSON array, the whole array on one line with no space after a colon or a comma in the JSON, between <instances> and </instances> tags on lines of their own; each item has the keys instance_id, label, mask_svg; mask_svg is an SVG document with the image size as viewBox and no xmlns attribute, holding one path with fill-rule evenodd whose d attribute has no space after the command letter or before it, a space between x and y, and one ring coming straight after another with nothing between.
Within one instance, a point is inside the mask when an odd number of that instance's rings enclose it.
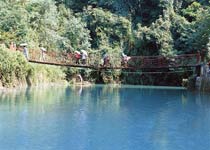
<instances>
[{"instance_id":1,"label":"red railing along the suspension bridge's walkway, behind the people","mask_svg":"<svg viewBox=\"0 0 210 150\"><path fill-rule=\"evenodd\" d=\"M41 51L30 50L30 59L40 62L57 63L65 65L83 65L76 64L75 55L73 53L48 51L44 53L44 58ZM164 56L130 56L126 66L121 65L122 58L120 55L110 56L110 62L105 67L120 68L163 68L163 67L179 67L190 66L200 63L199 54L184 54L173 57ZM95 68L102 67L103 60L100 54L89 54L86 64L83 66L93 66Z\"/></svg>"}]
</instances>

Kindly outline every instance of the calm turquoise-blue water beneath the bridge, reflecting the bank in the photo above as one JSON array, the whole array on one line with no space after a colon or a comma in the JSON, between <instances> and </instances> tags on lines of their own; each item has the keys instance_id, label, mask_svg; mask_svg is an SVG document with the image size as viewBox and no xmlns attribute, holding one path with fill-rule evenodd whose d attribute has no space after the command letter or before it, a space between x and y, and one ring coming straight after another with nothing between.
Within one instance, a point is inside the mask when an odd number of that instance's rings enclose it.
<instances>
[{"instance_id":1,"label":"calm turquoise-blue water beneath the bridge, reflecting the bank","mask_svg":"<svg viewBox=\"0 0 210 150\"><path fill-rule=\"evenodd\" d=\"M209 150L210 96L175 88L0 94L0 150Z\"/></svg>"}]
</instances>

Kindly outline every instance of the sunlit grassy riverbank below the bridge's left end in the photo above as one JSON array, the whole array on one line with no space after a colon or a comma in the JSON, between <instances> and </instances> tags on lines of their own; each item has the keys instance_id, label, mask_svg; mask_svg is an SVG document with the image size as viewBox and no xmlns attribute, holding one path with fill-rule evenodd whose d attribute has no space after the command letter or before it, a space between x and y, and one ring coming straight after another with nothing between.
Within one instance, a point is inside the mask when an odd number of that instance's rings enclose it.
<instances>
[{"instance_id":1,"label":"sunlit grassy riverbank below the bridge's left end","mask_svg":"<svg viewBox=\"0 0 210 150\"><path fill-rule=\"evenodd\" d=\"M19 51L0 47L0 89L61 83L64 68L29 63Z\"/></svg>"}]
</instances>

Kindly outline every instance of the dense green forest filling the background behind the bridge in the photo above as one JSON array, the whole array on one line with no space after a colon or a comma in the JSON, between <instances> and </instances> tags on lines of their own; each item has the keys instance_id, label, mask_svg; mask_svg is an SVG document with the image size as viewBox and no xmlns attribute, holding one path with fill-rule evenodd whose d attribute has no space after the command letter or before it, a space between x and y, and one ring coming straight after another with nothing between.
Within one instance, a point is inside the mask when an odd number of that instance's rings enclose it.
<instances>
[{"instance_id":1,"label":"dense green forest filling the background behind the bridge","mask_svg":"<svg viewBox=\"0 0 210 150\"><path fill-rule=\"evenodd\" d=\"M209 0L1 0L0 42L27 42L29 49L113 57L173 56L204 50L210 59ZM115 62L116 63L116 62ZM142 84L139 74L80 72L94 82ZM157 77L157 76L156 76ZM177 76L165 76L173 80ZM151 77L145 77L148 82ZM145 81L144 80L144 81ZM159 80L158 80L159 81ZM153 81L156 84L155 80Z\"/></svg>"}]
</instances>

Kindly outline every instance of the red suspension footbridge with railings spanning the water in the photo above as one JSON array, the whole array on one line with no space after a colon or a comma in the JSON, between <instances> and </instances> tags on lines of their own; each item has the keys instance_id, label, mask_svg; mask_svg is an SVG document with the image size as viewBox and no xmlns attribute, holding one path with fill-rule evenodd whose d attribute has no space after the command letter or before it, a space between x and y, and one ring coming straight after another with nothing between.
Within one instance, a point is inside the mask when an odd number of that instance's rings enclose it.
<instances>
[{"instance_id":1,"label":"red suspension footbridge with railings spanning the water","mask_svg":"<svg viewBox=\"0 0 210 150\"><path fill-rule=\"evenodd\" d=\"M151 73L168 72L169 70L185 69L185 68L199 68L201 65L201 55L196 54L183 54L171 57L164 56L129 56L129 61L122 65L122 58L110 57L110 61L106 65L101 65L100 56L90 54L85 64L77 64L75 56L72 53L58 53L58 52L46 52L45 59L41 57L39 51L31 50L30 59L31 63L77 67L77 68L89 68L93 70L101 69L122 69Z\"/></svg>"}]
</instances>

